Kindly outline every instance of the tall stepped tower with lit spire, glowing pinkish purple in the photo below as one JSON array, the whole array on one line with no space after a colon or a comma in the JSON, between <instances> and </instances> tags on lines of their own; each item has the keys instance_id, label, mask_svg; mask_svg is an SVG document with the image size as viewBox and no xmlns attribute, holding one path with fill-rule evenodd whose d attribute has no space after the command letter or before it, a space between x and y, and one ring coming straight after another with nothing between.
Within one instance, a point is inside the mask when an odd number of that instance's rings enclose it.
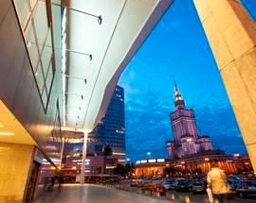
<instances>
[{"instance_id":1,"label":"tall stepped tower with lit spire, glowing pinkish purple","mask_svg":"<svg viewBox=\"0 0 256 203\"><path fill-rule=\"evenodd\" d=\"M186 108L176 84L174 87L175 110L170 114L174 141L167 142L168 158L181 159L200 152L213 150L209 136L200 136L193 110Z\"/></svg>"}]
</instances>

